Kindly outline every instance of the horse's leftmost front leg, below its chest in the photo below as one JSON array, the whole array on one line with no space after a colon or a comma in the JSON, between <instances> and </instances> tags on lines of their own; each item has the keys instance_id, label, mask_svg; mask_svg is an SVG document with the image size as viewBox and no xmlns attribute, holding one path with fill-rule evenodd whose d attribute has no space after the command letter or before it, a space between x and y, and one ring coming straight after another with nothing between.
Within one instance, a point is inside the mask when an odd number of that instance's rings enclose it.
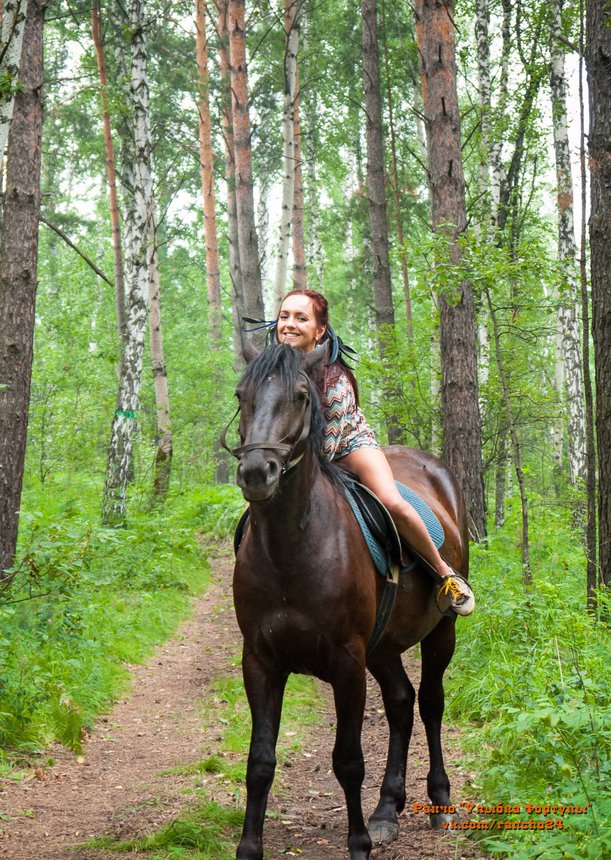
<instances>
[{"instance_id":1,"label":"horse's leftmost front leg, below its chest","mask_svg":"<svg viewBox=\"0 0 611 860\"><path fill-rule=\"evenodd\" d=\"M246 814L237 860L262 860L263 822L276 769L276 741L287 675L266 671L244 646L244 687L252 717L246 769Z\"/></svg>"}]
</instances>

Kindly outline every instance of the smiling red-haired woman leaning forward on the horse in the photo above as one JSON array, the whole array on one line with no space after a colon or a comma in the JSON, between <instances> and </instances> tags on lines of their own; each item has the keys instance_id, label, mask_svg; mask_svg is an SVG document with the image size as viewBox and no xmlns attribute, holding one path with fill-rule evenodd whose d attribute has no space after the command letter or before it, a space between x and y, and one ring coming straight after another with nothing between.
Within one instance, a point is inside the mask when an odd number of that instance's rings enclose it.
<instances>
[{"instance_id":1,"label":"smiling red-haired woman leaning forward on the horse","mask_svg":"<svg viewBox=\"0 0 611 860\"><path fill-rule=\"evenodd\" d=\"M293 290L284 298L275 324L280 343L310 352L329 338L327 300L314 290ZM358 405L358 386L350 369L336 357L319 384L327 421L323 456L337 460L388 508L401 537L437 571L443 583L437 599L445 597L459 615L470 615L475 599L469 584L439 555L418 512L400 495L373 431Z\"/></svg>"}]
</instances>

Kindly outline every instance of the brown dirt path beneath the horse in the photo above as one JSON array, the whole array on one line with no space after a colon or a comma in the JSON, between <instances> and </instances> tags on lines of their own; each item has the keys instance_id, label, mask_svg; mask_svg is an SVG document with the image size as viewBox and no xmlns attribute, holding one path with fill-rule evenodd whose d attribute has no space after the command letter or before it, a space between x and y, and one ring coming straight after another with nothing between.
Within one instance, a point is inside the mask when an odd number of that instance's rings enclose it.
<instances>
[{"instance_id":1,"label":"brown dirt path beneath the horse","mask_svg":"<svg viewBox=\"0 0 611 860\"><path fill-rule=\"evenodd\" d=\"M212 559L212 581L197 600L192 618L144 666L130 667L131 691L102 717L81 756L60 746L22 781L0 782L0 857L6 860L107 860L108 852L78 847L94 836L121 839L152 833L184 812L193 775L172 772L211 755L222 755L219 723L202 713L214 679L239 672L240 634L231 606L232 559L223 548ZM406 661L412 680L418 660ZM331 770L334 740L332 697L322 685L322 714L308 726L293 760L278 768L266 822L266 858L346 858L344 798ZM446 766L453 797L463 797L468 774L460 762L457 730L446 727ZM373 811L386 756L387 732L377 688L369 692L363 729L365 814ZM42 760L41 760L42 761ZM426 802L428 754L416 717L408 767L408 804L399 839L377 847L372 860L408 857L472 860L481 856L456 834L434 832L428 816L414 814ZM220 775L222 777L222 775ZM199 774L212 799L235 804L231 786L219 775ZM75 853L76 849L76 853ZM117 856L117 855L115 855ZM144 857L131 852L120 856Z\"/></svg>"}]
</instances>

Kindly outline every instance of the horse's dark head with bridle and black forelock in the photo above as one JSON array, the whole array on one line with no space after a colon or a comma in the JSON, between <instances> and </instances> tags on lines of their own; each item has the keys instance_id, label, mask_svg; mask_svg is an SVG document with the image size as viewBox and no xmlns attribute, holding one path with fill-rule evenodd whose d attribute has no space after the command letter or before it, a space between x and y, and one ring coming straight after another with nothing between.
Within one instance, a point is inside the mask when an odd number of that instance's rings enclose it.
<instances>
[{"instance_id":1,"label":"horse's dark head with bridle and black forelock","mask_svg":"<svg viewBox=\"0 0 611 860\"><path fill-rule=\"evenodd\" d=\"M241 444L237 483L249 502L271 499L281 476L301 460L312 416L320 413L311 376L328 358L322 347L302 355L273 344L252 358L236 388Z\"/></svg>"}]
</instances>

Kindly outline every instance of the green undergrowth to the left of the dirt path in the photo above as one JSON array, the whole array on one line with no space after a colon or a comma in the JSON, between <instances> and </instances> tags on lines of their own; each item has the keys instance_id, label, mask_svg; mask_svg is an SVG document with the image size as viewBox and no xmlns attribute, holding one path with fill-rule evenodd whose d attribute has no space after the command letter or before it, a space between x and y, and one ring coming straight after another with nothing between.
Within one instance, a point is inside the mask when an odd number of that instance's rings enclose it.
<instances>
[{"instance_id":1,"label":"green undergrowth to the left of the dirt path","mask_svg":"<svg viewBox=\"0 0 611 860\"><path fill-rule=\"evenodd\" d=\"M5 772L55 740L79 751L125 690L125 664L172 634L208 580L194 516L205 492L135 511L119 529L98 524L89 496L81 487L61 504L47 486L24 499L13 580L0 590Z\"/></svg>"}]
</instances>

